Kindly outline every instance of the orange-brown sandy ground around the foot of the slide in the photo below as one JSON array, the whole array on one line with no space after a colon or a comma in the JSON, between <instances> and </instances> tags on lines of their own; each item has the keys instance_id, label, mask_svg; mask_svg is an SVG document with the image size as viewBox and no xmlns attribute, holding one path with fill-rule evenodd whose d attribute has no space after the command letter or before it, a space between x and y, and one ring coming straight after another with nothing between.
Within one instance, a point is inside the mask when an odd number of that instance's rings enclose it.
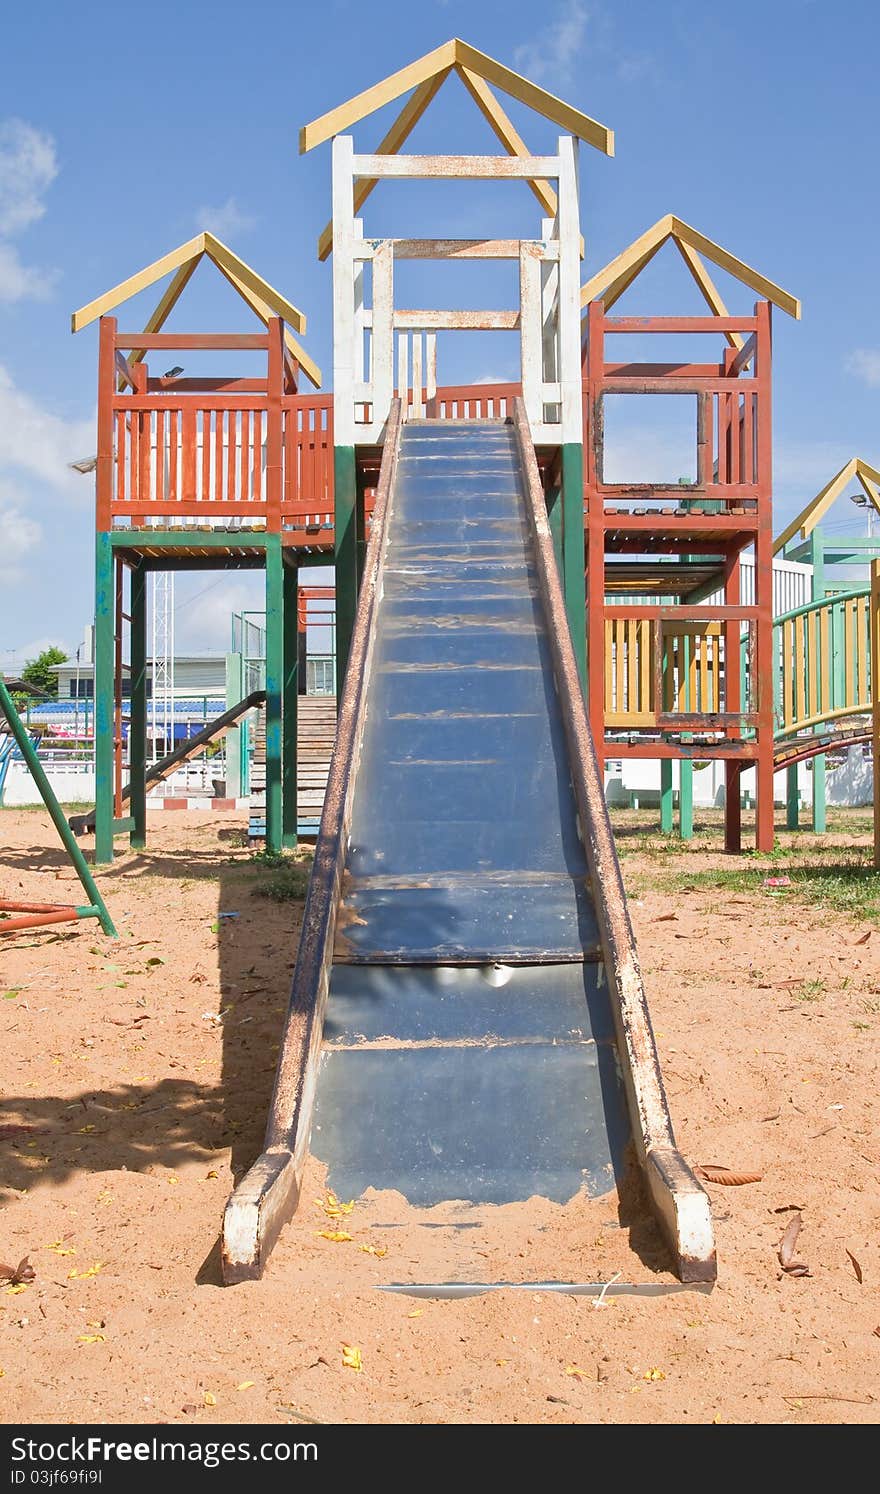
<instances>
[{"instance_id":1,"label":"orange-brown sandy ground around the foot of the slide","mask_svg":"<svg viewBox=\"0 0 880 1494\"><path fill-rule=\"evenodd\" d=\"M710 1186L711 1295L382 1294L460 1265L456 1210L375 1195L339 1216L317 1167L264 1279L224 1289L218 1225L260 1149L300 916L255 895L242 828L151 819L149 852L100 875L118 941L90 922L0 943L0 1259L36 1271L0 1286L4 1421L877 1419L880 929L765 887L672 893L669 868L750 862L623 828L680 1146L763 1174ZM42 813L0 811L0 887L76 898ZM617 1203L481 1210L474 1274L671 1283ZM777 1261L792 1206L808 1276Z\"/></svg>"}]
</instances>

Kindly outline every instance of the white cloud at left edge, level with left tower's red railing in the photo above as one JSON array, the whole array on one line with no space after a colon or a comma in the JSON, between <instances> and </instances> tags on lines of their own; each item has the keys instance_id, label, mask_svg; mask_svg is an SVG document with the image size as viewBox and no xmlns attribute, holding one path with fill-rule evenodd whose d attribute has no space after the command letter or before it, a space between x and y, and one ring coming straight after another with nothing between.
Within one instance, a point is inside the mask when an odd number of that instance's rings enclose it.
<instances>
[{"instance_id":1,"label":"white cloud at left edge, level with left tower's red railing","mask_svg":"<svg viewBox=\"0 0 880 1494\"><path fill-rule=\"evenodd\" d=\"M15 468L78 498L94 484L67 463L94 451L94 420L66 420L16 388L0 363L0 472Z\"/></svg>"}]
</instances>

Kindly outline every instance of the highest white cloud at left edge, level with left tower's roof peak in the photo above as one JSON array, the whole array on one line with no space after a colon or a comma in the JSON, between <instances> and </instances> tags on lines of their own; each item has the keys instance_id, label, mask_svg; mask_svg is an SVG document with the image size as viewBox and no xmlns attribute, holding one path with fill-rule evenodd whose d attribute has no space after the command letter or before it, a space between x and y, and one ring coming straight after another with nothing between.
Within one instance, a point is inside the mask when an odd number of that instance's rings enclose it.
<instances>
[{"instance_id":1,"label":"highest white cloud at left edge, level with left tower's roof peak","mask_svg":"<svg viewBox=\"0 0 880 1494\"><path fill-rule=\"evenodd\" d=\"M45 300L55 270L22 264L9 241L42 218L43 197L58 175L55 142L24 120L0 121L0 300Z\"/></svg>"}]
</instances>

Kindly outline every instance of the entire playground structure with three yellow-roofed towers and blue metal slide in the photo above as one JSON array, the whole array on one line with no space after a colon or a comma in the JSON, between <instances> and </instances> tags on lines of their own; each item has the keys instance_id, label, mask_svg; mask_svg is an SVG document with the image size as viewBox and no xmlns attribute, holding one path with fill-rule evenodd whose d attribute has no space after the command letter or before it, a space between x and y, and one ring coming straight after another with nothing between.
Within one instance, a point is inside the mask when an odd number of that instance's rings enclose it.
<instances>
[{"instance_id":1,"label":"entire playground structure with three yellow-roofed towers and blue metal slide","mask_svg":"<svg viewBox=\"0 0 880 1494\"><path fill-rule=\"evenodd\" d=\"M402 154L453 73L505 155ZM529 152L495 88L566 131L553 154ZM379 148L356 151L347 131L403 94ZM575 1174L575 1191L607 1189L622 1176L622 1128L680 1274L711 1279L708 1201L672 1137L601 769L608 756L660 759L671 804L674 760L723 762L726 844L738 849L740 780L754 765L756 844L772 849L771 305L798 317L799 302L672 215L581 285L578 140L613 154L611 131L462 42L306 125L302 148L330 139L333 218L320 254L333 252L332 394L300 391L302 374L320 384L293 336L305 333L302 312L211 235L73 317L75 330L100 318L99 862L112 859L114 834L145 841L146 572L264 571L264 832L279 850L297 838L299 568L335 566L336 746L264 1150L227 1206L226 1279L261 1273L296 1207L315 1106L332 1185L336 1171L353 1188L379 1176L423 1201L450 1197L463 1177L475 1192L451 1197L553 1197ZM366 236L357 214L377 184L397 179L518 179L544 217L529 239ZM707 314L611 315L666 244ZM163 330L202 257L263 330ZM394 266L414 258L514 263L518 305L402 308ZM707 260L759 296L749 315L728 311ZM145 330L118 330L117 306L164 273L173 279ZM441 384L438 333L481 329L518 333L520 378ZM608 341L632 336L722 345L702 363L665 350L665 362L611 360ZM146 366L146 354L161 366L200 351L255 354L261 372ZM623 394L692 400L693 481L607 481L605 411ZM754 596L744 604L747 550ZM720 605L708 601L717 589ZM853 614L844 604L840 616L846 639ZM127 817L112 731L126 622ZM790 635L792 657L798 638L819 638L813 660L823 629L822 617L787 617L777 638ZM861 689L861 660L844 662L844 690L853 669ZM799 680L793 671L789 690L783 668L790 743L835 714L832 674L816 699L808 681L801 699ZM514 820L538 847L505 840L520 781ZM492 1001L496 986L509 999ZM375 1050L379 1035L394 1040L393 1065ZM347 1086L372 1107L379 1158L359 1152ZM589 1115L569 1106L575 1092ZM514 1113L533 1149L508 1168L509 1137L489 1119ZM424 1150L430 1118L447 1126L445 1170Z\"/></svg>"}]
</instances>

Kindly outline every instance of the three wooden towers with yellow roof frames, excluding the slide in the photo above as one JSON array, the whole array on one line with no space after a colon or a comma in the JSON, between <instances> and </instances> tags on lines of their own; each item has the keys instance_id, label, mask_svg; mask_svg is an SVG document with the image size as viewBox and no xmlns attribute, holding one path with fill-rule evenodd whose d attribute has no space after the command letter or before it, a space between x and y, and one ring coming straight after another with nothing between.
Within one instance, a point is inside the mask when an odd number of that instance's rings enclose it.
<instances>
[{"instance_id":1,"label":"three wooden towers with yellow roof frames, excluding the slide","mask_svg":"<svg viewBox=\"0 0 880 1494\"><path fill-rule=\"evenodd\" d=\"M450 76L457 76L503 155L405 155L402 146ZM532 155L495 88L563 133ZM378 149L348 131L403 96ZM756 843L772 846L772 517L771 302L799 303L672 215L581 285L578 140L613 154L604 125L486 54L453 40L306 125L300 149L333 140L333 217L318 254L333 252L333 394L303 394L320 372L296 342L305 317L208 233L76 312L100 318L96 503L97 861L114 834L145 838L145 577L149 569L261 568L266 574L266 843L296 843L296 598L299 566L335 563L338 678L357 605L372 490L394 394L403 418L475 420L512 414L521 393L563 581L596 751L662 762L662 814L671 828L672 760L681 813L695 759L722 759L726 841L740 844L740 777L757 772ZM530 239L372 238L357 217L378 182L523 181L541 205ZM672 242L705 302L701 317L611 315L619 296ZM199 260L208 257L260 320L247 335L161 329ZM502 311L408 309L394 299L400 260L508 260L518 305ZM760 300L731 315L705 260ZM166 273L173 279L143 332L111 312ZM583 321L581 321L583 315ZM453 330L518 332L520 379L438 382L436 338ZM608 338L725 339L702 363L610 362ZM151 374L182 353L260 354L258 378ZM605 481L604 411L616 394L687 394L695 402L696 481ZM740 557L754 548L756 595L743 605ZM126 578L128 581L126 583ZM717 589L723 604L707 601ZM130 660L124 660L128 624ZM746 635L744 663L741 635ZM131 677L131 799L121 814L120 689Z\"/></svg>"}]
</instances>

